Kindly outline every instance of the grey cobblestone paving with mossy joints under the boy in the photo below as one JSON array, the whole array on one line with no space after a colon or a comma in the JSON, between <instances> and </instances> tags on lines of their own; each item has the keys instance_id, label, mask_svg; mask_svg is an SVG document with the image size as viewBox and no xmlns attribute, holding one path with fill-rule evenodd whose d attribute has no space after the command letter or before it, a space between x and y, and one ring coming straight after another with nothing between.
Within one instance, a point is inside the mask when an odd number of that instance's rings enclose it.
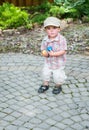
<instances>
[{"instance_id":1,"label":"grey cobblestone paving with mossy joints under the boy","mask_svg":"<svg viewBox=\"0 0 89 130\"><path fill-rule=\"evenodd\" d=\"M44 94L43 57L0 54L0 130L89 130L89 57L68 55L67 81ZM52 79L51 79L52 80Z\"/></svg>"}]
</instances>

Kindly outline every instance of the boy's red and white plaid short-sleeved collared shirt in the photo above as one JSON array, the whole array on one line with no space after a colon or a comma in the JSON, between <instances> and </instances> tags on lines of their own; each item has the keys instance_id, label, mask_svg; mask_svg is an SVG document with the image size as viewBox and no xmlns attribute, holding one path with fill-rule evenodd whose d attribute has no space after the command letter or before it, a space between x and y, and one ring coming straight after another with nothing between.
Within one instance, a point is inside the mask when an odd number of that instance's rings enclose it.
<instances>
[{"instance_id":1,"label":"boy's red and white plaid short-sleeved collared shirt","mask_svg":"<svg viewBox=\"0 0 89 130\"><path fill-rule=\"evenodd\" d=\"M50 40L48 36L44 37L41 50L47 50L47 47L51 46L54 52L67 50L67 42L64 36L58 34L58 36L54 40ZM48 65L50 69L58 69L65 65L66 62L66 54L57 57L45 57L45 64Z\"/></svg>"}]
</instances>

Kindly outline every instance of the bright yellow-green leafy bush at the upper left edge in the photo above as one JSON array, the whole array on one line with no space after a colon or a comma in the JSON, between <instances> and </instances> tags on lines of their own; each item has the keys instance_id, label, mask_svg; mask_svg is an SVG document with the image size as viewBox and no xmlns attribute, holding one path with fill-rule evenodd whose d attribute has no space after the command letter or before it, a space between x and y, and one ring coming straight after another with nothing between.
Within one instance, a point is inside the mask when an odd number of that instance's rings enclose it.
<instances>
[{"instance_id":1,"label":"bright yellow-green leafy bush at the upper left edge","mask_svg":"<svg viewBox=\"0 0 89 130\"><path fill-rule=\"evenodd\" d=\"M0 6L0 28L17 28L29 23L29 14L13 4L3 3Z\"/></svg>"}]
</instances>

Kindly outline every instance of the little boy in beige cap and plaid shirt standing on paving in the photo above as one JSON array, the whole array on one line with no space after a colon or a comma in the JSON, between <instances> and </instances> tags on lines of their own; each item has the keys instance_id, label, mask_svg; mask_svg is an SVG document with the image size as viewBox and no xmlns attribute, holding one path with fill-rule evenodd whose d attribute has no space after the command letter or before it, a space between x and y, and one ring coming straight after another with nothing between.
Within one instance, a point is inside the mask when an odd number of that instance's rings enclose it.
<instances>
[{"instance_id":1,"label":"little boy in beige cap and plaid shirt standing on paving","mask_svg":"<svg viewBox=\"0 0 89 130\"><path fill-rule=\"evenodd\" d=\"M60 32L60 20L56 17L48 17L44 21L44 29L47 36L44 37L41 44L42 55L45 57L42 71L43 84L38 89L38 93L44 93L49 89L51 74L55 83L53 94L59 94L62 91L62 84L66 79L64 67L66 61L67 43Z\"/></svg>"}]
</instances>

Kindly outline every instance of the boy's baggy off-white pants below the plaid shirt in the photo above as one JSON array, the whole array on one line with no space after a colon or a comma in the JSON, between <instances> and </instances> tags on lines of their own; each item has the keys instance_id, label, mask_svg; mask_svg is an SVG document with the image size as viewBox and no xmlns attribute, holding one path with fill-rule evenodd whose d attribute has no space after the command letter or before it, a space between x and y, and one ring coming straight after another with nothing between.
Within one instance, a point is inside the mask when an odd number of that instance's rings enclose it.
<instances>
[{"instance_id":1,"label":"boy's baggy off-white pants below the plaid shirt","mask_svg":"<svg viewBox=\"0 0 89 130\"><path fill-rule=\"evenodd\" d=\"M61 67L60 69L49 69L48 66L45 65L42 74L43 81L50 81L52 75L55 84L63 84L67 78L64 67Z\"/></svg>"}]
</instances>

